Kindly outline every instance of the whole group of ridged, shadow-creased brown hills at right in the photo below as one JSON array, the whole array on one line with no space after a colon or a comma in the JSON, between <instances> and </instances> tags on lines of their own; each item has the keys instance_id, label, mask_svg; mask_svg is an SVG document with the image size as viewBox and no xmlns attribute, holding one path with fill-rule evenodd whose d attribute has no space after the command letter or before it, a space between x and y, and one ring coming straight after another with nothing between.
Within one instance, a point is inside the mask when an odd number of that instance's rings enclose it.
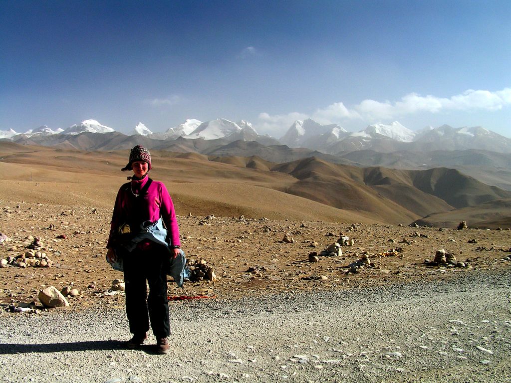
<instances>
[{"instance_id":1,"label":"whole group of ridged, shadow-creased brown hills at right","mask_svg":"<svg viewBox=\"0 0 511 383\"><path fill-rule=\"evenodd\" d=\"M511 197L511 193L505 190L485 185L454 169L406 171L382 167L359 168L307 158L276 165L272 170L299 180L286 189L288 193L340 208L370 211L379 218L386 217L390 222L396 215L424 217L454 207L475 206ZM375 196L394 204L383 202Z\"/></svg>"}]
</instances>

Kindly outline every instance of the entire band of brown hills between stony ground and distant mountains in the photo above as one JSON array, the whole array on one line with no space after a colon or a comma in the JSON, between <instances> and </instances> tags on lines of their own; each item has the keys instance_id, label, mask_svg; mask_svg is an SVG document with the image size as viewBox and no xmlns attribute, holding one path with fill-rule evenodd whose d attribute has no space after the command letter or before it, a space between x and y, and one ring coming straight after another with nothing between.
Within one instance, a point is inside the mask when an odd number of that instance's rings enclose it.
<instances>
[{"instance_id":1,"label":"entire band of brown hills between stony ground and distant mountains","mask_svg":"<svg viewBox=\"0 0 511 383\"><path fill-rule=\"evenodd\" d=\"M94 192L94 198L106 205L124 182L120 169L126 164L128 150L83 152L1 145L0 178L4 180L53 182L52 188L61 191L61 184L71 187L69 183L73 183L75 197L94 184L95 189L87 193ZM171 185L181 214L200 211L205 215L408 224L453 207L511 198L509 192L451 169L360 168L315 157L275 164L256 156L160 150L151 150L151 154L151 175ZM41 193L37 195L41 197ZM90 194L82 197L90 198Z\"/></svg>"}]
</instances>

